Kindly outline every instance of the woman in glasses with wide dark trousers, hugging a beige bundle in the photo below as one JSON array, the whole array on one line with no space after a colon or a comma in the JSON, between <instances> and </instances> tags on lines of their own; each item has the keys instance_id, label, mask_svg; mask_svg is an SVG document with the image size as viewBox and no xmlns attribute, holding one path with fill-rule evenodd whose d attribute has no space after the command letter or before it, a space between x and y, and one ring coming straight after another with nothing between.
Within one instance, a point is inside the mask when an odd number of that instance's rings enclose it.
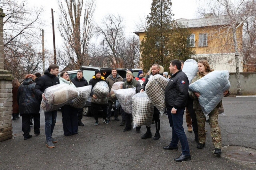
<instances>
[{"instance_id":1,"label":"woman in glasses with wide dark trousers, hugging a beige bundle","mask_svg":"<svg viewBox=\"0 0 256 170\"><path fill-rule=\"evenodd\" d=\"M64 83L76 88L76 86L71 82L67 72L60 73L60 83ZM77 109L65 104L61 107L61 114L64 135L71 136L78 134Z\"/></svg>"}]
</instances>

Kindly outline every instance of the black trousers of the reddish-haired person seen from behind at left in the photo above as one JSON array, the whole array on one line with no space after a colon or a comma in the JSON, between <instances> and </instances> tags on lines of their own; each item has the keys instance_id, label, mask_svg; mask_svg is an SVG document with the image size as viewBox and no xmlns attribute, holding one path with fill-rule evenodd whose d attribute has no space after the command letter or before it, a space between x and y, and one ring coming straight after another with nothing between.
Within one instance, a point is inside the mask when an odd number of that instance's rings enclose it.
<instances>
[{"instance_id":1,"label":"black trousers of the reddish-haired person seen from behind at left","mask_svg":"<svg viewBox=\"0 0 256 170\"><path fill-rule=\"evenodd\" d=\"M33 114L22 114L22 131L24 138L29 136L30 133L30 117L31 115L34 117L34 133L40 133L40 114L33 113Z\"/></svg>"}]
</instances>

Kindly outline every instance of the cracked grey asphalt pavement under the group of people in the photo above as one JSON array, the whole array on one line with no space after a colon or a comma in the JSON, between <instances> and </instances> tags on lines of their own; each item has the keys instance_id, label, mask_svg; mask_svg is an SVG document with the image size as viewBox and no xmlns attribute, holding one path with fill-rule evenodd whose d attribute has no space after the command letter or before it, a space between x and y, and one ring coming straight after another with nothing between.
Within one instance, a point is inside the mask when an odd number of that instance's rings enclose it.
<instances>
[{"instance_id":1,"label":"cracked grey asphalt pavement under the group of people","mask_svg":"<svg viewBox=\"0 0 256 170\"><path fill-rule=\"evenodd\" d=\"M255 123L256 97L234 98L223 100L225 113L219 116L221 127L223 156L213 154L210 127L206 124L206 147L196 148L194 134L187 132L184 119L183 127L187 134L192 160L174 162L181 154L178 151L163 150L170 143L171 128L167 115L160 117L161 138L157 141L141 139L146 127L141 133L135 129L123 132L120 121L105 124L99 119L99 125L94 125L93 117L83 117L85 126L78 127L78 135L65 137L62 128L62 116L58 113L53 136L58 139L56 147L45 146L44 115L41 115L41 134L29 140L23 140L21 119L13 121L13 139L0 142L0 170L244 170L254 169L246 163L227 159L225 148L230 145L256 149ZM185 115L184 115L185 116ZM121 116L119 116L121 117ZM33 134L33 126L31 126ZM155 124L151 131L154 135Z\"/></svg>"}]
</instances>

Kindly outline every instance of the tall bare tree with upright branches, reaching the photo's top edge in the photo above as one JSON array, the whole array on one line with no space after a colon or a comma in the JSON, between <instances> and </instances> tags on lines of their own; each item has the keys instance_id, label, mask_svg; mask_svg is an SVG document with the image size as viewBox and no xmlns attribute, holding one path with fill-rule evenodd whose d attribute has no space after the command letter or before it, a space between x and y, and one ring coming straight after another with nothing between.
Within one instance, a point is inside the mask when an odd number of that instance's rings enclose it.
<instances>
[{"instance_id":1,"label":"tall bare tree with upright branches, reaching the photo's top edge","mask_svg":"<svg viewBox=\"0 0 256 170\"><path fill-rule=\"evenodd\" d=\"M90 63L88 47L93 36L95 3L94 0L66 0L59 3L59 8L61 15L58 29L64 40L64 49L70 64L79 69Z\"/></svg>"}]
</instances>

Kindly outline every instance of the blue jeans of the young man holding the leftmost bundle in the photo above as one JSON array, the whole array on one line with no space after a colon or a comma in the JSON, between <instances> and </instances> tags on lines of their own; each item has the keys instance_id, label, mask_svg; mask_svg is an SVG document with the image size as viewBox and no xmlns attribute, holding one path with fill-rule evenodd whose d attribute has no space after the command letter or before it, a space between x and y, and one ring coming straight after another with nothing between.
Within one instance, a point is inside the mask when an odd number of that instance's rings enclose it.
<instances>
[{"instance_id":1,"label":"blue jeans of the young man holding the leftmost bundle","mask_svg":"<svg viewBox=\"0 0 256 170\"><path fill-rule=\"evenodd\" d=\"M52 137L52 132L57 119L57 110L49 111L44 113L45 117L45 136L46 141L50 141Z\"/></svg>"}]
</instances>

